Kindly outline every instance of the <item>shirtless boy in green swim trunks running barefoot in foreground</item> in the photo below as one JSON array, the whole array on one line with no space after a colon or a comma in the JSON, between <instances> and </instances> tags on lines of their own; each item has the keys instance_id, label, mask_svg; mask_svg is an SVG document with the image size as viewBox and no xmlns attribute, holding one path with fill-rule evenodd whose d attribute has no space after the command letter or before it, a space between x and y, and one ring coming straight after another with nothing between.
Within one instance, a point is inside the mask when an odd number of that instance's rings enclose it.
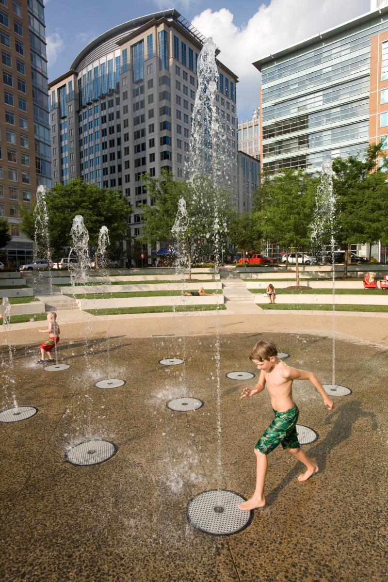
<instances>
[{"instance_id":1,"label":"shirtless boy in green swim trunks running barefoot in foreground","mask_svg":"<svg viewBox=\"0 0 388 582\"><path fill-rule=\"evenodd\" d=\"M264 340L257 342L249 357L260 370L260 377L252 390L244 388L240 398L249 398L262 392L266 384L275 418L255 445L256 488L248 501L239 503L239 509L247 511L265 506L264 482L268 467L267 455L277 445L281 444L283 449L306 466L305 472L299 475L298 481L307 481L311 475L318 473L318 465L312 462L298 442L296 423L299 410L293 401L293 380L309 380L321 394L323 404L328 406L329 410L333 408L333 400L326 394L316 375L306 370L289 368L277 357L277 349L273 343Z\"/></svg>"}]
</instances>

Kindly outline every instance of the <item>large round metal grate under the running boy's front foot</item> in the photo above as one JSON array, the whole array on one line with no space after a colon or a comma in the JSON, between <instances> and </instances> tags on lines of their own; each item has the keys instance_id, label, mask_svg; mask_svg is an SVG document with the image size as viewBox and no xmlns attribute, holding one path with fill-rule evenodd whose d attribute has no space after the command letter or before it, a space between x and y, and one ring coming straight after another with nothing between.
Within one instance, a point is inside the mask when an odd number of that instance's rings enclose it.
<instances>
[{"instance_id":1,"label":"large round metal grate under the running boy's front foot","mask_svg":"<svg viewBox=\"0 0 388 582\"><path fill-rule=\"evenodd\" d=\"M188 502L188 519L207 534L237 534L248 526L252 517L252 512L237 507L237 503L244 501L244 497L226 489L204 491Z\"/></svg>"}]
</instances>

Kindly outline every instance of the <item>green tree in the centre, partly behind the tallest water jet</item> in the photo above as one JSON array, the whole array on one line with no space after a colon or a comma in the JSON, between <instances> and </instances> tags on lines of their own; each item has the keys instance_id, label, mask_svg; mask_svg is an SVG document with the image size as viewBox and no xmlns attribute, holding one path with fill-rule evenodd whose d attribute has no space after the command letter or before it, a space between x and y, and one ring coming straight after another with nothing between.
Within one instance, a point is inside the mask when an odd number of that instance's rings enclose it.
<instances>
[{"instance_id":1,"label":"green tree in the centre, partly behind the tallest water jet","mask_svg":"<svg viewBox=\"0 0 388 582\"><path fill-rule=\"evenodd\" d=\"M213 188L206 178L195 179L193 183L174 180L172 172L163 170L159 178L144 176L144 185L151 196L153 205L142 205L144 243L155 246L156 241L175 247L179 242L187 256L189 278L193 258L201 258L204 240L211 252L220 253L225 244L232 210L226 192ZM177 218L179 200L186 203L187 219L179 237L173 232ZM215 228L216 225L216 228ZM179 241L177 240L179 239Z\"/></svg>"}]
</instances>

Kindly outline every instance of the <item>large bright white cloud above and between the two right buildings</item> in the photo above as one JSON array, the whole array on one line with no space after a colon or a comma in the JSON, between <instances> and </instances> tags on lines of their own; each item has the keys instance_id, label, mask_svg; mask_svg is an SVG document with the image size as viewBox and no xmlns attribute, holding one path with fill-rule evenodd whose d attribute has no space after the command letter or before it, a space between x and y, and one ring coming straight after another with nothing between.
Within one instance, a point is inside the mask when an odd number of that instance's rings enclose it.
<instances>
[{"instance_id":1,"label":"large bright white cloud above and between the two right buildings","mask_svg":"<svg viewBox=\"0 0 388 582\"><path fill-rule=\"evenodd\" d=\"M219 47L220 61L237 74L239 119L251 116L258 105L260 75L251 64L262 56L296 44L370 9L369 0L272 0L262 4L247 24L237 27L226 8L210 8L195 16L193 25L211 36Z\"/></svg>"}]
</instances>

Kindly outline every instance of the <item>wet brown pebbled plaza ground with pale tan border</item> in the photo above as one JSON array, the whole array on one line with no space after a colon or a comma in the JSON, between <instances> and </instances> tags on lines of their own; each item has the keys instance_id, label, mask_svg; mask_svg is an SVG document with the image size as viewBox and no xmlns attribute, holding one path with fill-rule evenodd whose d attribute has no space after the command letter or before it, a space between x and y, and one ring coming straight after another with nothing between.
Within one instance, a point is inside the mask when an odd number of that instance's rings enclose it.
<instances>
[{"instance_id":1,"label":"wet brown pebbled plaza ground with pale tan border","mask_svg":"<svg viewBox=\"0 0 388 582\"><path fill-rule=\"evenodd\" d=\"M255 379L238 382L225 374L255 373L247 355L266 338L290 354L287 364L330 383L331 315L268 313L256 306L155 317L82 318L63 311L58 357L71 367L56 373L34 364L45 337L37 328L44 322L13 325L1 335L1 410L12 406L13 393L19 406L35 406L38 413L0 423L1 579L386 580L388 331L375 315L336 315L336 383L352 393L335 398L332 412L309 382L294 384L298 423L319 434L305 447L319 473L299 483L302 467L276 449L269 457L266 508L229 537L195 530L187 503L218 487L250 496L253 447L272 410L266 393L239 399ZM181 357L185 364L163 367L163 357ZM126 384L95 388L104 378ZM178 396L200 398L204 406L175 413L166 403ZM90 438L114 442L116 455L90 467L67 463L66 450Z\"/></svg>"}]
</instances>

